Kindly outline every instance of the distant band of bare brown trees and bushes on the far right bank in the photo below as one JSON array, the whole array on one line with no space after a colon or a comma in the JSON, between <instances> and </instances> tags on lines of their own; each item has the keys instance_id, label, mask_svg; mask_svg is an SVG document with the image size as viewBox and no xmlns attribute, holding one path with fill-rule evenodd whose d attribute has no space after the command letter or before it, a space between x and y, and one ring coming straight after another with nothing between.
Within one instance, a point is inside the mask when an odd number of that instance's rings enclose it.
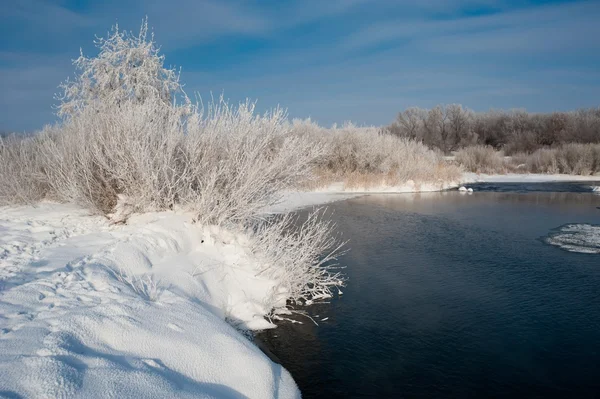
<instances>
[{"instance_id":1,"label":"distant band of bare brown trees and bushes on the far right bank","mask_svg":"<svg viewBox=\"0 0 600 399\"><path fill-rule=\"evenodd\" d=\"M600 143L600 108L549 114L523 110L475 113L460 104L408 108L385 131L448 154L473 145L506 155L569 143Z\"/></svg>"}]
</instances>

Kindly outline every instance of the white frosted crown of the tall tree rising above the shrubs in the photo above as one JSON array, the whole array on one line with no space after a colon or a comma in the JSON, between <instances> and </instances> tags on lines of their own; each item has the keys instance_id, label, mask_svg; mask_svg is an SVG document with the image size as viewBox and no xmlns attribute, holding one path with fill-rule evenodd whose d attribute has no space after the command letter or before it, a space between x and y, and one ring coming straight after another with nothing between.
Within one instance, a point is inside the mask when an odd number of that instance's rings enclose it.
<instances>
[{"instance_id":1,"label":"white frosted crown of the tall tree rising above the shrubs","mask_svg":"<svg viewBox=\"0 0 600 399\"><path fill-rule=\"evenodd\" d=\"M108 38L97 38L95 44L99 54L88 58L81 51L73 61L79 74L61 84L59 116L68 119L92 105L110 109L123 102L160 100L172 105L180 99L189 104L179 73L163 65L164 56L154 35L148 34L147 20L142 21L137 36L115 25Z\"/></svg>"}]
</instances>

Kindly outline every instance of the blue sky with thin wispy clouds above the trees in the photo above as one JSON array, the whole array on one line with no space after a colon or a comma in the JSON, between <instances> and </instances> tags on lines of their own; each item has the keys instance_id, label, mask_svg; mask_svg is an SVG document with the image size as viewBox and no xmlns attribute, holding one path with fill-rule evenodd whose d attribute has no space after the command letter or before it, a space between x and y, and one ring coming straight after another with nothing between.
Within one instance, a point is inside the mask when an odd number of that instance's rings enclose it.
<instances>
[{"instance_id":1,"label":"blue sky with thin wispy clouds above the trees","mask_svg":"<svg viewBox=\"0 0 600 399\"><path fill-rule=\"evenodd\" d=\"M188 94L280 105L329 125L409 106L534 112L600 105L600 1L6 0L0 130L55 120L82 48L148 16Z\"/></svg>"}]
</instances>

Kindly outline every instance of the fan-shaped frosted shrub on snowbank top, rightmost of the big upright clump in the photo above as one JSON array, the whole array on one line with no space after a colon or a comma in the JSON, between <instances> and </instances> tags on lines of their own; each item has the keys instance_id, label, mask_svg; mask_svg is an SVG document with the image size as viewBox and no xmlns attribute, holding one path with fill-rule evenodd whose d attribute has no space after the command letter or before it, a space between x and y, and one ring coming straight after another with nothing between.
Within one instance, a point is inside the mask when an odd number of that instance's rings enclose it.
<instances>
[{"instance_id":1,"label":"fan-shaped frosted shrub on snowbank top, rightmost of the big upright clump","mask_svg":"<svg viewBox=\"0 0 600 399\"><path fill-rule=\"evenodd\" d=\"M191 178L179 197L206 223L255 216L282 190L309 179L324 153L318 142L291 134L282 110L259 116L251 103L215 104L191 118L188 132Z\"/></svg>"}]
</instances>

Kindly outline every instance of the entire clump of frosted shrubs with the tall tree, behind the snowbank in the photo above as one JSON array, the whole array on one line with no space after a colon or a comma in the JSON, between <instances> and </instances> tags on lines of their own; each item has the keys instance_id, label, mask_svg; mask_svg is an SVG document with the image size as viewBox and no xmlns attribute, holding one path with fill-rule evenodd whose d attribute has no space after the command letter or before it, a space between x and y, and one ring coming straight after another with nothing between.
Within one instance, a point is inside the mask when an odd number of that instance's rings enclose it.
<instances>
[{"instance_id":1,"label":"entire clump of frosted shrubs with the tall tree, behind the snowbank","mask_svg":"<svg viewBox=\"0 0 600 399\"><path fill-rule=\"evenodd\" d=\"M203 223L243 223L307 179L324 153L290 133L281 109L190 104L145 22L138 36L115 29L98 45L97 57L75 61L81 73L64 85L62 123L3 142L5 201L45 196L110 214L121 198L132 211L181 207Z\"/></svg>"}]
</instances>

